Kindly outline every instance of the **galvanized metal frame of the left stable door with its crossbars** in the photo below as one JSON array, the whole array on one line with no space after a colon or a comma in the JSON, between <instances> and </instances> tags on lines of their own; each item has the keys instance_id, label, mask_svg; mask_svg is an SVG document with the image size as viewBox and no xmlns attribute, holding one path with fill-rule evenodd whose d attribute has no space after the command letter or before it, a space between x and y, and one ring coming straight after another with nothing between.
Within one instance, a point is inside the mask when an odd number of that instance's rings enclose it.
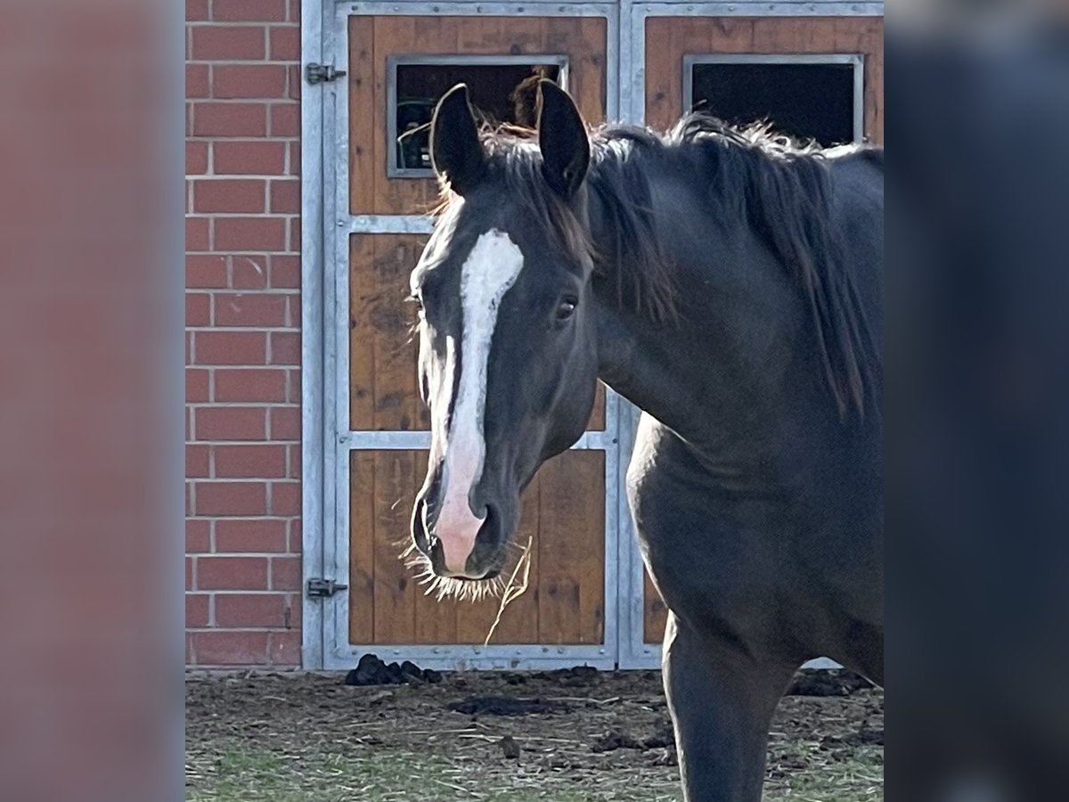
<instances>
[{"instance_id":1,"label":"galvanized metal frame of the left stable door with its crossbars","mask_svg":"<svg viewBox=\"0 0 1069 802\"><path fill-rule=\"evenodd\" d=\"M545 16L599 16L606 19L606 102L608 113L616 114L616 81L618 57L614 42L618 41L618 17L614 3L556 3L542 2L344 2L330 3L323 9L322 52L327 62L344 65L348 58L347 29L352 16L390 15L449 15L481 16L501 15L517 17ZM348 297L348 236L354 233L428 233L431 222L415 215L351 215L348 212L348 93L344 81L323 84L317 92L322 104L322 165L321 200L323 204L322 249L323 266L320 272L322 310L320 336L322 371L322 407L312 402L311 410L321 408L320 476L322 507L315 510L308 504L306 512L322 520L319 543L307 542L306 526L305 575L308 579L324 576L341 583L347 581L348 565L348 466L350 452L354 449L420 449L430 444L427 432L350 431L348 429L348 326L346 303ZM307 178L306 178L307 181ZM306 188L307 191L307 188ZM308 199L310 200L310 199ZM309 286L314 291L314 286ZM314 310L313 320L314 320ZM307 325L307 324L306 324ZM313 371L308 371L314 382ZM315 386L307 385L308 387ZM306 399L307 401L307 399ZM573 446L576 449L597 449L605 452L605 571L604 571L604 628L601 644L543 646L543 645L491 645L433 646L433 645L353 645L348 643L348 599L344 592L334 597L306 600L305 620L314 632L305 633L305 667L340 669L352 667L355 660L367 651L375 651L390 660L415 660L421 665L437 668L553 668L576 663L610 668L616 665L619 643L617 599L619 598L616 561L618 549L619 505L619 444L618 418L620 399L606 394L605 429L589 431ZM314 421L307 421L314 427ZM309 441L314 442L314 439ZM308 454L312 457L311 454ZM306 496L314 493L306 487ZM317 558L309 558L315 555Z\"/></svg>"}]
</instances>

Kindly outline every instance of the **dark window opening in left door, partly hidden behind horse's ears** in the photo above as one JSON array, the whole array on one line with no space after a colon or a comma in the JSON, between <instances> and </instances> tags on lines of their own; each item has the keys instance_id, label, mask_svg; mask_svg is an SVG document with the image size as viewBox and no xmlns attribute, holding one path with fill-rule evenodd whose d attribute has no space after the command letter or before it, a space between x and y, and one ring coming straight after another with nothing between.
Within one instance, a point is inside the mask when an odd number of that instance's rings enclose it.
<instances>
[{"instance_id":1,"label":"dark window opening in left door, partly hidden behind horse's ears","mask_svg":"<svg viewBox=\"0 0 1069 802\"><path fill-rule=\"evenodd\" d=\"M389 175L431 175L430 123L434 107L446 92L466 83L471 104L490 120L533 127L538 81L561 82L564 59L547 62L527 59L508 63L405 62L393 63L393 93L389 109Z\"/></svg>"}]
</instances>

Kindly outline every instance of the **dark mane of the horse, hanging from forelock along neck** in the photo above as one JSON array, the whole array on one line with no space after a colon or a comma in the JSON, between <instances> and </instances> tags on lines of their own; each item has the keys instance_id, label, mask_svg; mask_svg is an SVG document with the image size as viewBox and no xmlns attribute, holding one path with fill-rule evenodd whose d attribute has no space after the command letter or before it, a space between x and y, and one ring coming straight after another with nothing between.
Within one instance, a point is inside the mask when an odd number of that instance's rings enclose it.
<instances>
[{"instance_id":1,"label":"dark mane of the horse, hanging from forelock along neck","mask_svg":"<svg viewBox=\"0 0 1069 802\"><path fill-rule=\"evenodd\" d=\"M661 234L652 179L664 159L685 159L707 176L710 211L745 220L800 286L815 324L825 380L840 417L865 413L876 363L868 321L841 237L832 221L830 166L858 157L883 170L877 148L822 150L758 124L730 126L693 112L665 134L631 125L606 125L591 135L587 186L607 216L611 242L594 243L578 219L541 178L537 132L513 125L481 125L492 170L503 174L513 197L548 222L569 251L589 259L595 275L615 282L621 308L656 324L679 320L680 295L670 243ZM453 197L443 187L441 213Z\"/></svg>"}]
</instances>

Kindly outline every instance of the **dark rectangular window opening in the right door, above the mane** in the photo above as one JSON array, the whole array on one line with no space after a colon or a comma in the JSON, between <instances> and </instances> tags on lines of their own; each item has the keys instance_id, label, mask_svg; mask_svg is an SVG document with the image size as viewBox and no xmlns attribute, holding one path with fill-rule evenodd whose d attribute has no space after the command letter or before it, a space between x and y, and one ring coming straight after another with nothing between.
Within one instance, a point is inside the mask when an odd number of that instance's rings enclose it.
<instances>
[{"instance_id":1,"label":"dark rectangular window opening in the right door, above the mane","mask_svg":"<svg viewBox=\"0 0 1069 802\"><path fill-rule=\"evenodd\" d=\"M853 62L690 65L691 108L733 125L761 120L824 146L854 141L858 98Z\"/></svg>"}]
</instances>

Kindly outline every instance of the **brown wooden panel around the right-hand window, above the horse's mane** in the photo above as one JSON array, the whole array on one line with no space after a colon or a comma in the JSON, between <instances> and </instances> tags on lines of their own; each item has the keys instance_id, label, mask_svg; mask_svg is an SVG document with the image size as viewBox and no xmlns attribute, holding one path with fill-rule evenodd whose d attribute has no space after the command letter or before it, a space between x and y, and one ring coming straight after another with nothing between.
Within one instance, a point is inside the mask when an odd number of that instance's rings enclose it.
<instances>
[{"instance_id":1,"label":"brown wooden panel around the right-hand window, above the horse's mane","mask_svg":"<svg viewBox=\"0 0 1069 802\"><path fill-rule=\"evenodd\" d=\"M649 17L647 124L663 130L680 118L683 56L700 53L861 53L865 136L883 143L883 17Z\"/></svg>"}]
</instances>

